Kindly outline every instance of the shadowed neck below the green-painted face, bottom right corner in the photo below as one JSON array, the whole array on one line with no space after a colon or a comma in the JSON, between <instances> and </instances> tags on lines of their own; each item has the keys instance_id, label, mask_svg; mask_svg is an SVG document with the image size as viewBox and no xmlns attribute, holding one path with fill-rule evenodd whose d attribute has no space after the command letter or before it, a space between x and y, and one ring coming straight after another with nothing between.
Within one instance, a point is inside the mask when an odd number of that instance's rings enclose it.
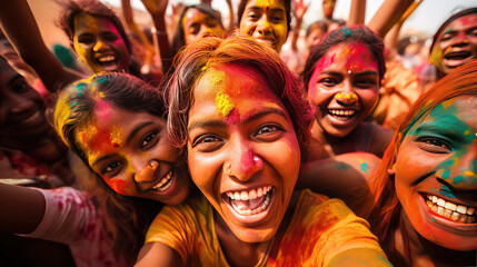
<instances>
[{"instance_id":1,"label":"shadowed neck below the green-painted face, bottom right corner","mask_svg":"<svg viewBox=\"0 0 477 267\"><path fill-rule=\"evenodd\" d=\"M406 260L411 266L471 266L476 264L477 251L459 251L436 245L416 231L406 214L401 211L401 224L396 231L396 248L406 257L406 241L409 249L409 258Z\"/></svg>"}]
</instances>

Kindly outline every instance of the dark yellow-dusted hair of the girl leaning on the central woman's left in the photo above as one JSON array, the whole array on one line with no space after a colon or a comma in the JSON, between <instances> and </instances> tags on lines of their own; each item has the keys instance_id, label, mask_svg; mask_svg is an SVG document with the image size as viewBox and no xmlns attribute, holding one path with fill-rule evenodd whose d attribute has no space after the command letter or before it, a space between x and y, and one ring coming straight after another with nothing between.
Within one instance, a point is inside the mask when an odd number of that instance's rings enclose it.
<instances>
[{"instance_id":1,"label":"dark yellow-dusted hair of the girl leaning on the central woman's left","mask_svg":"<svg viewBox=\"0 0 477 267\"><path fill-rule=\"evenodd\" d=\"M131 112L147 112L157 117L165 113L157 89L126 73L95 75L63 89L54 108L54 128L88 168L88 158L76 138L76 130L88 121L99 101ZM147 227L161 205L121 196L111 190L97 174L92 179L85 180L85 187L105 215L103 228L112 240L115 253L135 258L143 243Z\"/></svg>"}]
</instances>

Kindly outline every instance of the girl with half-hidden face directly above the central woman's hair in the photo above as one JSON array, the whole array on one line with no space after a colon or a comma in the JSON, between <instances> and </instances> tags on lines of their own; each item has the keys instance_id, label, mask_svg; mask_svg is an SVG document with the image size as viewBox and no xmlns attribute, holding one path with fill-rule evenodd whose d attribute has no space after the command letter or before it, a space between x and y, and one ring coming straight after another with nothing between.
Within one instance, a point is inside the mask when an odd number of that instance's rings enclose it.
<instances>
[{"instance_id":1,"label":"girl with half-hidden face directly above the central woman's hair","mask_svg":"<svg viewBox=\"0 0 477 267\"><path fill-rule=\"evenodd\" d=\"M186 6L178 18L176 34L172 39L172 55L177 55L183 46L208 36L223 37L222 21L209 4Z\"/></svg>"}]
</instances>

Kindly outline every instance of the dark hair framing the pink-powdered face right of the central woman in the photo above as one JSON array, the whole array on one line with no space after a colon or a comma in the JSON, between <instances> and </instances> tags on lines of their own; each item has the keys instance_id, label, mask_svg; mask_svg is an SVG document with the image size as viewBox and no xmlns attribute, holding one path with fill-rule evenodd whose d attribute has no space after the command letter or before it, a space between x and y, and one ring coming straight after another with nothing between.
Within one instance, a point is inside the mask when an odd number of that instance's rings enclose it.
<instances>
[{"instance_id":1,"label":"dark hair framing the pink-powdered face right of the central woman","mask_svg":"<svg viewBox=\"0 0 477 267\"><path fill-rule=\"evenodd\" d=\"M382 39L379 38L377 33L372 32L366 26L352 26L331 31L326 36L325 40L321 43L314 47L310 55L308 56L307 62L305 63L305 69L301 72L301 77L305 82L305 91L308 91L308 83L318 61L332 47L342 42L359 42L368 47L374 58L378 61L380 85L380 81L386 72L386 62L384 55L385 44L382 43Z\"/></svg>"}]
</instances>

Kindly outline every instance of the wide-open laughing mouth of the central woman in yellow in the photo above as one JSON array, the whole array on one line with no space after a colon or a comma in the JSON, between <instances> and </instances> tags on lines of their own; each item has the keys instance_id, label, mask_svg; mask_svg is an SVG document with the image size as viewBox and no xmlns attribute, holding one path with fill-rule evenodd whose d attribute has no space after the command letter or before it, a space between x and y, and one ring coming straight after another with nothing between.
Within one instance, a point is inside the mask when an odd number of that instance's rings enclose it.
<instances>
[{"instance_id":1,"label":"wide-open laughing mouth of the central woman in yellow","mask_svg":"<svg viewBox=\"0 0 477 267\"><path fill-rule=\"evenodd\" d=\"M248 191L228 191L225 198L238 215L251 216L268 209L272 192L271 186L264 186Z\"/></svg>"}]
</instances>

